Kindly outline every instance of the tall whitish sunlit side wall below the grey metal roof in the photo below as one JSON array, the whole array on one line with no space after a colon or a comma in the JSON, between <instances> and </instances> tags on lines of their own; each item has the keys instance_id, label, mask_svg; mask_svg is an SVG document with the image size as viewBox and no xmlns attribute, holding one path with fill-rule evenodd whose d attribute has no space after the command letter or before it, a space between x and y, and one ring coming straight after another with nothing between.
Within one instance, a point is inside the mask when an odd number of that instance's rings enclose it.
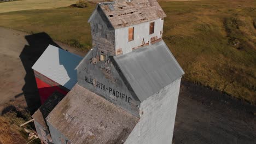
<instances>
[{"instance_id":1,"label":"tall whitish sunlit side wall below the grey metal roof","mask_svg":"<svg viewBox=\"0 0 256 144\"><path fill-rule=\"evenodd\" d=\"M141 103L141 119L125 144L172 143L180 86L181 78Z\"/></svg>"}]
</instances>

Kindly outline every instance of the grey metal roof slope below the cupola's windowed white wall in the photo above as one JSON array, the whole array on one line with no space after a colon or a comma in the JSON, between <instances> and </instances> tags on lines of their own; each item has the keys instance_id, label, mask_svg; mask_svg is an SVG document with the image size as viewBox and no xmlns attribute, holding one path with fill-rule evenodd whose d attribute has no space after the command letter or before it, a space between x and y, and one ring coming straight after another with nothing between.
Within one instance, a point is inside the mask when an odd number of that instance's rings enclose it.
<instances>
[{"instance_id":1,"label":"grey metal roof slope below the cupola's windowed white wall","mask_svg":"<svg viewBox=\"0 0 256 144\"><path fill-rule=\"evenodd\" d=\"M164 41L115 56L120 70L143 101L184 74Z\"/></svg>"}]
</instances>

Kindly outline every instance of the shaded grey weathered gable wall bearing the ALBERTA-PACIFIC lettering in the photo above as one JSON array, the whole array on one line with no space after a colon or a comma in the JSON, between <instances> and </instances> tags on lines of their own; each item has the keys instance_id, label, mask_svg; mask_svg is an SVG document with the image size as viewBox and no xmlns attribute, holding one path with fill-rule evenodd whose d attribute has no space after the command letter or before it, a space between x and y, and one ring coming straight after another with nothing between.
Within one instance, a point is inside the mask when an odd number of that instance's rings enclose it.
<instances>
[{"instance_id":1,"label":"shaded grey weathered gable wall bearing the ALBERTA-PACIFIC lettering","mask_svg":"<svg viewBox=\"0 0 256 144\"><path fill-rule=\"evenodd\" d=\"M98 60L96 48L85 56L77 68L78 84L138 116L139 100L123 81L117 66L110 59Z\"/></svg>"}]
</instances>

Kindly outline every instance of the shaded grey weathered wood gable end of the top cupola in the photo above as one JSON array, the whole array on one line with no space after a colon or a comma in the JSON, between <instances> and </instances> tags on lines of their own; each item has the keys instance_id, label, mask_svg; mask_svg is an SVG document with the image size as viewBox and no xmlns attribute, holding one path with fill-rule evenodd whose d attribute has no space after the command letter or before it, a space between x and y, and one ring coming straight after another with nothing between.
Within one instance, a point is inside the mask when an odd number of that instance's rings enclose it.
<instances>
[{"instance_id":1,"label":"shaded grey weathered wood gable end of the top cupola","mask_svg":"<svg viewBox=\"0 0 256 144\"><path fill-rule=\"evenodd\" d=\"M115 35L114 29L110 30L103 21L101 14L96 11L94 18L90 22L92 47L97 47L105 55L115 55Z\"/></svg>"}]
</instances>

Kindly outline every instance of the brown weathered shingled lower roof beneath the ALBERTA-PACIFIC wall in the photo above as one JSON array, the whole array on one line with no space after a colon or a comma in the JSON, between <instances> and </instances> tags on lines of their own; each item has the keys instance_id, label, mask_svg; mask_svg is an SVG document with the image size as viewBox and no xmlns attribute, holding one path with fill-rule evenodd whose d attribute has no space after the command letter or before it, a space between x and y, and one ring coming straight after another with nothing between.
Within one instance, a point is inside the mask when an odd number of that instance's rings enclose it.
<instances>
[{"instance_id":1,"label":"brown weathered shingled lower roof beneath the ALBERTA-PACIFIC wall","mask_svg":"<svg viewBox=\"0 0 256 144\"><path fill-rule=\"evenodd\" d=\"M76 144L123 143L138 118L76 84L46 118Z\"/></svg>"}]
</instances>

